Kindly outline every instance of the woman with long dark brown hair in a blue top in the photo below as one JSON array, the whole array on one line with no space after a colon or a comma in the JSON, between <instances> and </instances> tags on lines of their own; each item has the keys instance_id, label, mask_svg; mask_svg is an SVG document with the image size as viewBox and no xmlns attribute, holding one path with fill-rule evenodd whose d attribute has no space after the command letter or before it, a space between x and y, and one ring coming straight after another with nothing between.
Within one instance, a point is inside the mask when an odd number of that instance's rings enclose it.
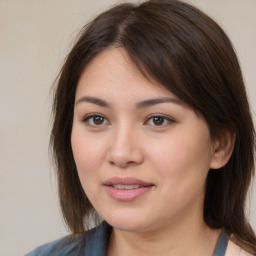
<instances>
[{"instance_id":1,"label":"woman with long dark brown hair in a blue top","mask_svg":"<svg viewBox=\"0 0 256 256\"><path fill-rule=\"evenodd\" d=\"M253 122L232 45L201 11L152 0L100 14L53 112L72 235L28 255L256 255Z\"/></svg>"}]
</instances>

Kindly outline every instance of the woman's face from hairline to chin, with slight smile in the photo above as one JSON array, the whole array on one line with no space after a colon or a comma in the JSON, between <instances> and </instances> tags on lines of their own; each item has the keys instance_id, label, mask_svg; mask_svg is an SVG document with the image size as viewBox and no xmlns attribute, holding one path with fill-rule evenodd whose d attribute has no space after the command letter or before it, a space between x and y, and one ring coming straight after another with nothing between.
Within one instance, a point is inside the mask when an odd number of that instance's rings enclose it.
<instances>
[{"instance_id":1,"label":"woman's face from hairline to chin, with slight smile","mask_svg":"<svg viewBox=\"0 0 256 256\"><path fill-rule=\"evenodd\" d=\"M72 149L83 189L113 227L154 230L202 217L214 150L205 120L145 79L122 48L79 80Z\"/></svg>"}]
</instances>

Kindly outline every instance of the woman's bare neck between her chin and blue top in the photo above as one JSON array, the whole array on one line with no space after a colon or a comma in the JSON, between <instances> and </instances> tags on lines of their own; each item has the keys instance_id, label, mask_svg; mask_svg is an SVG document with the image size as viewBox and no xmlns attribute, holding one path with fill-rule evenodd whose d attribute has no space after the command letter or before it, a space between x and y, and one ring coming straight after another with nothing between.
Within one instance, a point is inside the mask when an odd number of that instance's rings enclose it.
<instances>
[{"instance_id":1,"label":"woman's bare neck between her chin and blue top","mask_svg":"<svg viewBox=\"0 0 256 256\"><path fill-rule=\"evenodd\" d=\"M127 232L113 228L107 255L211 256L220 230L212 230L203 218L177 220L155 230Z\"/></svg>"}]
</instances>

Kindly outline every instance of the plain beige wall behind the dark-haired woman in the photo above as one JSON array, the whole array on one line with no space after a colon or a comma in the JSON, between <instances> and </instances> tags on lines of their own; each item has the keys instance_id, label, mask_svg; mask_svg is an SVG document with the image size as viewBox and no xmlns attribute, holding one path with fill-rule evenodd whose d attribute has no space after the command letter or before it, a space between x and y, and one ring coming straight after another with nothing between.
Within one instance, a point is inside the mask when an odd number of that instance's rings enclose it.
<instances>
[{"instance_id":1,"label":"plain beige wall behind the dark-haired woman","mask_svg":"<svg viewBox=\"0 0 256 256\"><path fill-rule=\"evenodd\" d=\"M0 256L66 233L49 163L51 84L71 39L111 0L0 0ZM194 0L226 29L256 110L256 1ZM251 220L256 230L256 190Z\"/></svg>"}]
</instances>

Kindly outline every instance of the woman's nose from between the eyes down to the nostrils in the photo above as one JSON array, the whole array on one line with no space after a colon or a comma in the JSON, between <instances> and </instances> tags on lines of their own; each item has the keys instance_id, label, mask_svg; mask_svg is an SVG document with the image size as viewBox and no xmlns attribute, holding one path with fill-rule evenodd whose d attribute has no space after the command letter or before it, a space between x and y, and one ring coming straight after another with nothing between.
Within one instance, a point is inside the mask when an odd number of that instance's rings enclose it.
<instances>
[{"instance_id":1,"label":"woman's nose from between the eyes down to the nostrils","mask_svg":"<svg viewBox=\"0 0 256 256\"><path fill-rule=\"evenodd\" d=\"M138 134L137 134L138 135ZM119 168L139 165L144 161L142 145L134 129L119 127L113 131L107 161Z\"/></svg>"}]
</instances>

